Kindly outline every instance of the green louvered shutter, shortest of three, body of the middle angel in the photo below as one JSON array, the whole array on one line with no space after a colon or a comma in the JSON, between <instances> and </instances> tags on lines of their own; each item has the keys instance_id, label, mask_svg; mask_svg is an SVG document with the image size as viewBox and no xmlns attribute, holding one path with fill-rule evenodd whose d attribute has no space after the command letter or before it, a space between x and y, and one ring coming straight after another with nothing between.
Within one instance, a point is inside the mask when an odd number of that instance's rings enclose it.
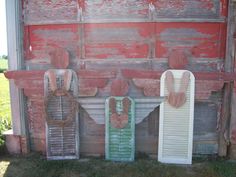
<instances>
[{"instance_id":1,"label":"green louvered shutter, shortest of three, body of the middle angel","mask_svg":"<svg viewBox=\"0 0 236 177\"><path fill-rule=\"evenodd\" d=\"M128 123L124 128L114 128L110 123L111 110L109 101L116 99L116 110L120 113L123 110L122 100L125 97L109 97L106 99L106 159L113 161L133 161L135 152L135 120L134 101L129 98Z\"/></svg>"}]
</instances>

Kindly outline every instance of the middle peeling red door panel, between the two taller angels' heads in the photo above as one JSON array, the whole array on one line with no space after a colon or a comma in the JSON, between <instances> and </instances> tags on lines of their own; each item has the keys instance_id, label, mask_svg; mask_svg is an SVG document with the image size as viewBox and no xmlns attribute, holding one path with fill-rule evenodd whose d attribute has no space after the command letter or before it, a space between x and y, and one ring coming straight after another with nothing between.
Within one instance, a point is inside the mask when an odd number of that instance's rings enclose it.
<instances>
[{"instance_id":1,"label":"middle peeling red door panel, between the two taller angels' heads","mask_svg":"<svg viewBox=\"0 0 236 177\"><path fill-rule=\"evenodd\" d=\"M150 23L85 25L85 58L147 58Z\"/></svg>"}]
</instances>

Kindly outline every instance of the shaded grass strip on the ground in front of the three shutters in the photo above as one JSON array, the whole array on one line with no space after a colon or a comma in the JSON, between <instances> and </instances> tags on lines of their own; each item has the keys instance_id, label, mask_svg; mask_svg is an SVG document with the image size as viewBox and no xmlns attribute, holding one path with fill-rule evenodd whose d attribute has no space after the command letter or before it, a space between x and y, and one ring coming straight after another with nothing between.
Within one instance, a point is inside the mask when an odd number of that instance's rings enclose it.
<instances>
[{"instance_id":1,"label":"shaded grass strip on the ground in front of the three shutters","mask_svg":"<svg viewBox=\"0 0 236 177\"><path fill-rule=\"evenodd\" d=\"M193 165L165 165L138 159L115 163L102 159L47 161L44 156L0 158L0 177L235 177L236 163L226 160L194 161Z\"/></svg>"}]
</instances>

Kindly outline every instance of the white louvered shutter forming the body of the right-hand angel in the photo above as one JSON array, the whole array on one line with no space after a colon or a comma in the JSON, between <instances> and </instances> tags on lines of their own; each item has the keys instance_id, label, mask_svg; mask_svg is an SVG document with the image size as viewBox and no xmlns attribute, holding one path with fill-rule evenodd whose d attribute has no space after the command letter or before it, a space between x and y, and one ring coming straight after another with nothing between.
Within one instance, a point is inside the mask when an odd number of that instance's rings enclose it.
<instances>
[{"instance_id":1,"label":"white louvered shutter forming the body of the right-hand angel","mask_svg":"<svg viewBox=\"0 0 236 177\"><path fill-rule=\"evenodd\" d=\"M170 70L178 91L181 77L186 70ZM169 93L165 84L166 72L161 77L161 96ZM187 101L180 108L172 107L167 101L160 105L158 160L162 163L191 164L193 144L195 78L190 72L186 93Z\"/></svg>"}]
</instances>

